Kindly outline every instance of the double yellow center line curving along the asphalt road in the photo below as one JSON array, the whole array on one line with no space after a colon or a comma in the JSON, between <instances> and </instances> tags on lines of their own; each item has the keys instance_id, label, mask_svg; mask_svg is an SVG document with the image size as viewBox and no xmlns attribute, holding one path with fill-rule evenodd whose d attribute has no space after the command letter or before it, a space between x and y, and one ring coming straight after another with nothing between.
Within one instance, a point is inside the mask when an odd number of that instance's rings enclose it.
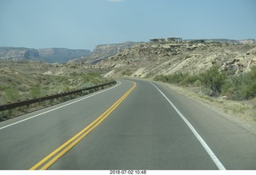
<instances>
[{"instance_id":1,"label":"double yellow center line curving along the asphalt road","mask_svg":"<svg viewBox=\"0 0 256 175\"><path fill-rule=\"evenodd\" d=\"M86 137L93 129L95 129L102 121L105 120L106 117L110 115L124 101L124 99L130 94L130 92L136 87L136 83L134 82L134 86L132 86L118 101L111 105L109 109L107 109L102 115L96 118L90 125L87 125L86 128L82 129L79 133L77 133L74 137L70 138L70 140L66 141L63 145L59 146L58 149L55 149L54 152L50 153L48 156L44 157L41 161L39 161L36 165L32 166L30 170L34 169L48 169L51 165L54 164L60 157L62 157L66 152L68 152L74 145L78 144L82 138Z\"/></svg>"}]
</instances>

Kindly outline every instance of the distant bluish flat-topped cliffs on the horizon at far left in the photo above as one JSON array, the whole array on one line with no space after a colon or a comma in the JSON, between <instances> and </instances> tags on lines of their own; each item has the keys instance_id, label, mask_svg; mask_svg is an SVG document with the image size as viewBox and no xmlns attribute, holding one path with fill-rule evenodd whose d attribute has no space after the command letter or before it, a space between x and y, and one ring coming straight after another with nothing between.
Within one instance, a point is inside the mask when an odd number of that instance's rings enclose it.
<instances>
[{"instance_id":1,"label":"distant bluish flat-topped cliffs on the horizon at far left","mask_svg":"<svg viewBox=\"0 0 256 175\"><path fill-rule=\"evenodd\" d=\"M29 49L24 47L0 47L0 60L34 60L42 62L68 62L70 59L90 55L90 50L69 50L65 48Z\"/></svg>"}]
</instances>

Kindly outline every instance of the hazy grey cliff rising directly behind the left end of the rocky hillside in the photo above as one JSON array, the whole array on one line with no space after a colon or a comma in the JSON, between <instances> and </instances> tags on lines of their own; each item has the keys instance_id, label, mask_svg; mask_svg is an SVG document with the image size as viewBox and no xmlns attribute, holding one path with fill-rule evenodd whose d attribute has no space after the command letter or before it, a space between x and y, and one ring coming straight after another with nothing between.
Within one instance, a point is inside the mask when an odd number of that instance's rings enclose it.
<instances>
[{"instance_id":1,"label":"hazy grey cliff rising directly behind the left end of the rocky hillside","mask_svg":"<svg viewBox=\"0 0 256 175\"><path fill-rule=\"evenodd\" d=\"M122 50L130 49L135 44L138 44L138 42L123 42L118 44L98 45L98 46L95 46L95 49L90 56L81 57L74 61L89 62L91 64L96 64L97 62L100 62L106 58L109 58L111 56L114 56L115 54L118 54Z\"/></svg>"}]
</instances>

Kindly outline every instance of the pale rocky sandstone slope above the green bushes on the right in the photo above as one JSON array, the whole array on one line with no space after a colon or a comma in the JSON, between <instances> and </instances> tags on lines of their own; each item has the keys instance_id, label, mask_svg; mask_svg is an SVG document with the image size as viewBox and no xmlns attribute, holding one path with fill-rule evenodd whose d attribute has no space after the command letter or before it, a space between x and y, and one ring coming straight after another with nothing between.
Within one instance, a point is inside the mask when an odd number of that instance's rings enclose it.
<instances>
[{"instance_id":1,"label":"pale rocky sandstone slope above the green bushes on the right","mask_svg":"<svg viewBox=\"0 0 256 175\"><path fill-rule=\"evenodd\" d=\"M147 42L122 50L95 67L112 68L112 73L118 76L142 78L175 72L200 74L213 65L221 71L239 74L256 65L255 48L254 43Z\"/></svg>"}]
</instances>

